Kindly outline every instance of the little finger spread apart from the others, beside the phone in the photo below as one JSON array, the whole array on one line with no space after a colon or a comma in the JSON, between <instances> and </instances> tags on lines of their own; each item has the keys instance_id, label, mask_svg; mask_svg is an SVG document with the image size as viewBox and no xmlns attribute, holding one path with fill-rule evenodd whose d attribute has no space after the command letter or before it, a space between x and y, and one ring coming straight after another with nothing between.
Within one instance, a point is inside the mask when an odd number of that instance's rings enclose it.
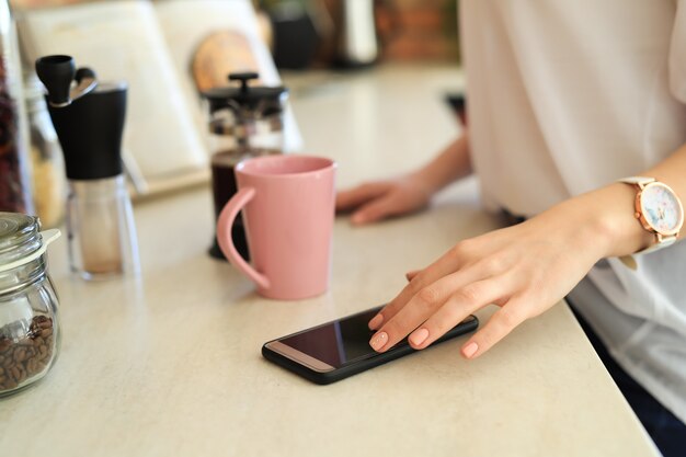
<instances>
[{"instance_id":1,"label":"little finger spread apart from the others, beside the phone","mask_svg":"<svg viewBox=\"0 0 686 457\"><path fill-rule=\"evenodd\" d=\"M491 316L481 330L475 333L461 349L465 358L475 358L493 347L515 327L524 322L525 308L516 299L510 300Z\"/></svg>"}]
</instances>

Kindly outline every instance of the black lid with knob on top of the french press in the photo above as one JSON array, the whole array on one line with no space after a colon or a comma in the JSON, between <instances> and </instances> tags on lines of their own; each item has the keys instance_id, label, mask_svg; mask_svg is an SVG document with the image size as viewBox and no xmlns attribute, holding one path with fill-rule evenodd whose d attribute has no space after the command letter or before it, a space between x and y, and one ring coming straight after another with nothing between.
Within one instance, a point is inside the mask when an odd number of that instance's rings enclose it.
<instances>
[{"instance_id":1,"label":"black lid with knob on top of the french press","mask_svg":"<svg viewBox=\"0 0 686 457\"><path fill-rule=\"evenodd\" d=\"M283 101L288 95L288 89L283 85L249 85L248 81L258 79L255 72L230 73L229 81L240 81L240 87L228 85L214 88L203 92L209 101L209 111L226 107L241 107L245 110L261 110L263 115L279 113L283 110Z\"/></svg>"}]
</instances>

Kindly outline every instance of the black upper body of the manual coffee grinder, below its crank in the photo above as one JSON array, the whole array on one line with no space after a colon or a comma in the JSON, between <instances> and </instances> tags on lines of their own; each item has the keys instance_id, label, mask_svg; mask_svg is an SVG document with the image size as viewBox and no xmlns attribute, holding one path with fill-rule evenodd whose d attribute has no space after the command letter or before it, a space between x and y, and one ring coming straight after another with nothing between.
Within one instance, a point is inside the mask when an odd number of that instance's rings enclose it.
<instances>
[{"instance_id":1,"label":"black upper body of the manual coffee grinder, below its crank","mask_svg":"<svg viewBox=\"0 0 686 457\"><path fill-rule=\"evenodd\" d=\"M48 103L68 179L98 180L122 174L126 92L125 82L101 83L68 106L54 107Z\"/></svg>"}]
</instances>

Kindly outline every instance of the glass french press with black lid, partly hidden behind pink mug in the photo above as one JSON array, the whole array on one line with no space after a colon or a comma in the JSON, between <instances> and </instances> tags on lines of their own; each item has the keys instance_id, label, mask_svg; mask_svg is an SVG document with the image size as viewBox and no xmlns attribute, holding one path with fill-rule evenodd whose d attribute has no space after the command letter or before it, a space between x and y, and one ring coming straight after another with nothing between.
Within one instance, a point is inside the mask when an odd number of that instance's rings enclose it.
<instances>
[{"instance_id":1,"label":"glass french press with black lid, partly hidden behind pink mug","mask_svg":"<svg viewBox=\"0 0 686 457\"><path fill-rule=\"evenodd\" d=\"M288 90L284 87L249 84L249 81L258 78L255 72L230 73L229 81L238 81L239 87L228 85L203 92L209 108L215 220L237 192L233 169L238 162L284 151L284 105ZM241 217L236 218L231 235L238 252L249 260ZM216 237L209 254L226 260Z\"/></svg>"}]
</instances>

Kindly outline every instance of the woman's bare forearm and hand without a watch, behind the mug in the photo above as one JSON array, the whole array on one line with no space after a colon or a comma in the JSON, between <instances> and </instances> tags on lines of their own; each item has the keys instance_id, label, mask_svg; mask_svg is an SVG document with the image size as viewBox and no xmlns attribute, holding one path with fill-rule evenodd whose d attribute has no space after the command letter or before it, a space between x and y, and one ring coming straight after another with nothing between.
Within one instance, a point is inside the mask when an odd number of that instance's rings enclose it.
<instances>
[{"instance_id":1,"label":"woman's bare forearm and hand without a watch, behind the mug","mask_svg":"<svg viewBox=\"0 0 686 457\"><path fill-rule=\"evenodd\" d=\"M354 210L351 220L358 225L412 213L425 207L436 192L470 173L469 141L462 135L420 170L340 192L336 210Z\"/></svg>"}]
</instances>

